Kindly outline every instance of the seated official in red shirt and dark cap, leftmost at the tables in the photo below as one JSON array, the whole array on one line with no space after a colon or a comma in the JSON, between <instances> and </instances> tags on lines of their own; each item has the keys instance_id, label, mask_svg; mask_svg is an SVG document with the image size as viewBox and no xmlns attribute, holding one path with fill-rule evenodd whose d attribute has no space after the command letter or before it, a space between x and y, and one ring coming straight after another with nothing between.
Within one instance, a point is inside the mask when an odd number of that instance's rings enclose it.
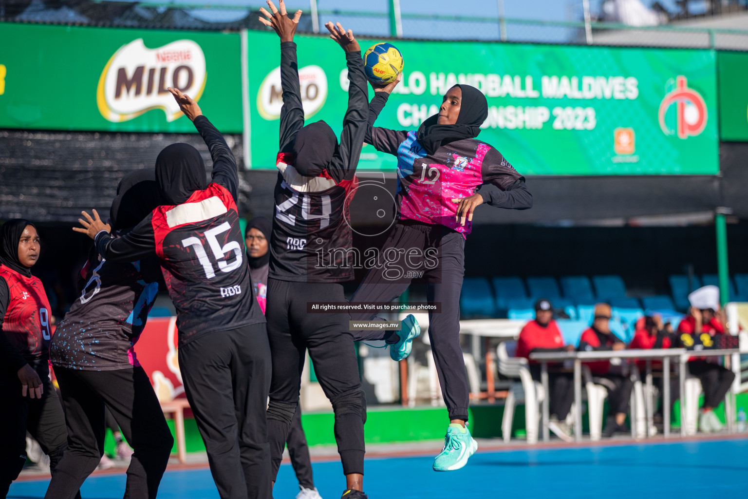
<instances>
[{"instance_id":1,"label":"seated official in red shirt and dark cap, leftmost at the tables","mask_svg":"<svg viewBox=\"0 0 748 499\"><path fill-rule=\"evenodd\" d=\"M538 300L535 304L535 320L527 322L520 331L515 354L517 357L530 361L532 352L574 351L574 345L564 345L561 331L553 317L551 302L546 299ZM530 373L533 379L540 381L540 365L536 361L530 361ZM574 402L574 375L551 366L548 385L551 391L551 419L548 428L559 438L571 441L571 425L565 423L565 419Z\"/></svg>"}]
</instances>

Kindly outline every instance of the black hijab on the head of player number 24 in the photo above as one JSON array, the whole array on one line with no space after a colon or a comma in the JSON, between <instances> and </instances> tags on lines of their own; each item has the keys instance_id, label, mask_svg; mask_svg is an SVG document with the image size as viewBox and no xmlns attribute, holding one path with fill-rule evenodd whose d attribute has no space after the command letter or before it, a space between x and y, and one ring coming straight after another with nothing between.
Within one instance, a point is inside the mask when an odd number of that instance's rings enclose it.
<instances>
[{"instance_id":1,"label":"black hijab on the head of player number 24","mask_svg":"<svg viewBox=\"0 0 748 499\"><path fill-rule=\"evenodd\" d=\"M294 168L306 177L316 177L328 167L337 150L337 136L320 120L296 132L293 139Z\"/></svg>"}]
</instances>

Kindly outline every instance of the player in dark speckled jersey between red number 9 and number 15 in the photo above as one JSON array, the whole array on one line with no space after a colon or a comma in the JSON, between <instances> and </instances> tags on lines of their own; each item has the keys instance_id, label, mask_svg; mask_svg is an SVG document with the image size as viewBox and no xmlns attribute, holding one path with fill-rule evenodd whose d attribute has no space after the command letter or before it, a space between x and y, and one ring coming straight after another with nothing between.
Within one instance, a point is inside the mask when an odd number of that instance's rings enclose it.
<instances>
[{"instance_id":1,"label":"player in dark speckled jersey between red number 9 and number 15","mask_svg":"<svg viewBox=\"0 0 748 499\"><path fill-rule=\"evenodd\" d=\"M162 204L153 170L120 181L110 223L122 237ZM155 254L129 262L103 259L95 247L79 274L79 297L55 329L49 357L65 409L70 448L46 498L72 498L99 464L105 407L135 450L125 497L155 498L174 438L159 399L135 356L163 278Z\"/></svg>"}]
</instances>

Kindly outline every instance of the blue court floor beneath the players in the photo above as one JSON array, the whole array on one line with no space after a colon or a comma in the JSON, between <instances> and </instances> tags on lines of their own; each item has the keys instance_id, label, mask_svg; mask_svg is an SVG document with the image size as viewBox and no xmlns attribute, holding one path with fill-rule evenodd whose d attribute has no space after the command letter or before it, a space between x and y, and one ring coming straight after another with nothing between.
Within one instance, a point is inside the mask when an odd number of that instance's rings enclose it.
<instances>
[{"instance_id":1,"label":"blue court floor beneath the players","mask_svg":"<svg viewBox=\"0 0 748 499\"><path fill-rule=\"evenodd\" d=\"M435 473L431 464L432 457L367 459L364 488L371 499L737 499L748 490L748 439L479 452L465 468L448 473ZM315 462L313 468L322 497L340 498L340 462ZM7 497L43 498L46 484L13 483ZM99 475L81 492L85 499L115 499L124 486L124 474ZM275 499L297 492L291 466L283 465ZM218 492L208 469L167 471L159 498L217 499Z\"/></svg>"}]
</instances>

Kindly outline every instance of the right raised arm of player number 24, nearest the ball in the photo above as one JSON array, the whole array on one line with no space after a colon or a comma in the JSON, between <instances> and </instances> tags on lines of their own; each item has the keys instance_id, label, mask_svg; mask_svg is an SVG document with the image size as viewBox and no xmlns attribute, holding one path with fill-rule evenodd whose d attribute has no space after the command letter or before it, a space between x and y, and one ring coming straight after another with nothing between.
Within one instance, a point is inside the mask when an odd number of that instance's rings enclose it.
<instances>
[{"instance_id":1,"label":"right raised arm of player number 24, nearest the ball","mask_svg":"<svg viewBox=\"0 0 748 499\"><path fill-rule=\"evenodd\" d=\"M343 47L346 52L348 66L348 110L343 117L343 132L340 133L340 147L334 153L328 174L334 180L350 180L356 171L364 135L367 131L367 77L364 74L364 61L361 59L361 47L353 37L353 31L346 31L338 22L333 25L328 22L325 27L330 31L330 37Z\"/></svg>"}]
</instances>

